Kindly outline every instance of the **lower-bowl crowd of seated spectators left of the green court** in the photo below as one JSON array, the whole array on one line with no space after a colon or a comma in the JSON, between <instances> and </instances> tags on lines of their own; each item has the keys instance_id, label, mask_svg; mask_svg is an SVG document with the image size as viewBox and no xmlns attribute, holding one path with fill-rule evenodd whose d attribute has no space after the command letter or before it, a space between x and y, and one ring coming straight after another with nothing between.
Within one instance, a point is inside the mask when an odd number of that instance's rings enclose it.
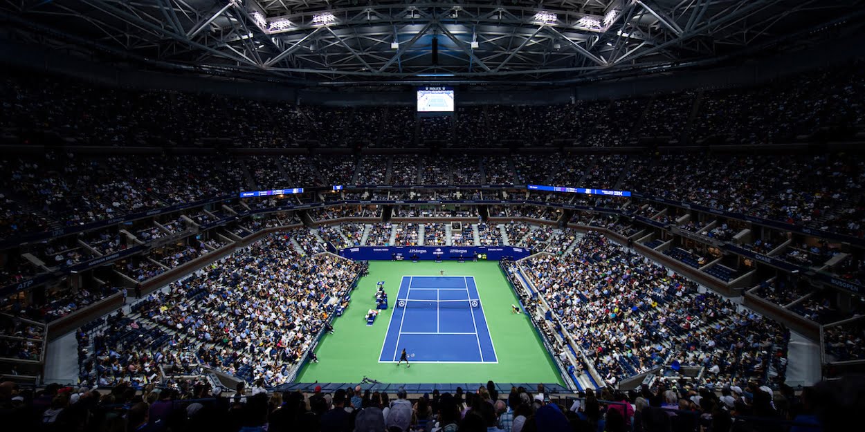
<instances>
[{"instance_id":1,"label":"lower-bowl crowd of seated spectators left of the green court","mask_svg":"<svg viewBox=\"0 0 865 432\"><path fill-rule=\"evenodd\" d=\"M138 385L163 374L157 370L204 364L267 385L285 383L362 265L302 256L292 245L297 233L272 233L148 295L131 315L113 316L92 335L86 377Z\"/></svg>"}]
</instances>

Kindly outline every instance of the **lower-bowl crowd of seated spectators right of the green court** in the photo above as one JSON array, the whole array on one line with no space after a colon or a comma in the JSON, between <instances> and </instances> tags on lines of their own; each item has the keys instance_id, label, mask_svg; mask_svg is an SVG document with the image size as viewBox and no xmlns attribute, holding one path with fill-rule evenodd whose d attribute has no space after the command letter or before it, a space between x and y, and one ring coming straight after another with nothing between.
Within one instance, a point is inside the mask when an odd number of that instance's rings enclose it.
<instances>
[{"instance_id":1,"label":"lower-bowl crowd of seated spectators right of the green court","mask_svg":"<svg viewBox=\"0 0 865 432\"><path fill-rule=\"evenodd\" d=\"M789 332L588 232L571 255L524 262L529 280L608 384L676 360L706 384L784 381ZM770 373L770 370L772 373Z\"/></svg>"}]
</instances>

